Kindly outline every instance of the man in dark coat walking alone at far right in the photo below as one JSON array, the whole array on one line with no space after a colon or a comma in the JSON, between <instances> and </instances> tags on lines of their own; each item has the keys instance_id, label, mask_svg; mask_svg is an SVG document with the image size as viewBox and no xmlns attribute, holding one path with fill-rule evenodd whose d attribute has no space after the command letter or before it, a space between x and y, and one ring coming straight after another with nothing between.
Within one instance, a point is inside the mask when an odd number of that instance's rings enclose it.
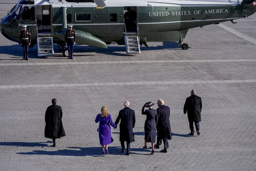
<instances>
[{"instance_id":1,"label":"man in dark coat walking alone at far right","mask_svg":"<svg viewBox=\"0 0 256 171\"><path fill-rule=\"evenodd\" d=\"M194 136L195 133L193 122L195 122L197 135L200 135L199 122L201 121L202 99L196 94L196 90L192 90L190 92L191 96L187 97L183 108L184 114L187 113L189 128L191 131L189 135L191 136Z\"/></svg>"}]
</instances>

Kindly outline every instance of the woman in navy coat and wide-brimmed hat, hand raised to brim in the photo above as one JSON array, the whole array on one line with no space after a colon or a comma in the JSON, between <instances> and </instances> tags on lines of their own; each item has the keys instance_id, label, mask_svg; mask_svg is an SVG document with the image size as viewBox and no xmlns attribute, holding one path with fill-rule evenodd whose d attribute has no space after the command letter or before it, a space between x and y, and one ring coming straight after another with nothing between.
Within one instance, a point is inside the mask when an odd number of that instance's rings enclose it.
<instances>
[{"instance_id":1,"label":"woman in navy coat and wide-brimmed hat, hand raised to brim","mask_svg":"<svg viewBox=\"0 0 256 171\"><path fill-rule=\"evenodd\" d=\"M141 114L147 115L144 131L145 131L145 145L143 149L147 149L147 142L151 142L152 145L152 152L151 154L154 155L154 145L156 142L156 125L157 125L157 110L153 109L152 106L154 103L147 102L141 111ZM148 110L144 111L144 108L147 107Z\"/></svg>"}]
</instances>

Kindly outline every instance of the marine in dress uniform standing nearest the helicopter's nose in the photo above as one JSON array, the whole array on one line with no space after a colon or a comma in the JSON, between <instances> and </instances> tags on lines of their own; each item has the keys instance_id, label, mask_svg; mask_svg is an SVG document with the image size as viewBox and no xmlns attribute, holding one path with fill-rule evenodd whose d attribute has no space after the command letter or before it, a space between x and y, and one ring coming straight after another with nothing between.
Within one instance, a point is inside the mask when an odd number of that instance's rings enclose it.
<instances>
[{"instance_id":1,"label":"marine in dress uniform standing nearest the helicopter's nose","mask_svg":"<svg viewBox=\"0 0 256 171\"><path fill-rule=\"evenodd\" d=\"M19 44L23 48L23 59L22 60L28 60L28 46L31 43L30 38L31 33L27 30L27 26L23 26L23 30L19 33Z\"/></svg>"}]
</instances>

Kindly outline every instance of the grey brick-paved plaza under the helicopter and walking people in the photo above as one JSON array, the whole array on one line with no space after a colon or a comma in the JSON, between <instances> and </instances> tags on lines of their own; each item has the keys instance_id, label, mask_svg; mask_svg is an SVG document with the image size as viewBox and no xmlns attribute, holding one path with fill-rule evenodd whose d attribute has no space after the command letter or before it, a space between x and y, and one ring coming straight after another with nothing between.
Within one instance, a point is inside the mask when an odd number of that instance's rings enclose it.
<instances>
[{"instance_id":1,"label":"grey brick-paved plaza under the helicopter and walking people","mask_svg":"<svg viewBox=\"0 0 256 171\"><path fill-rule=\"evenodd\" d=\"M15 5L1 0L0 18ZM188 31L176 43L151 42L141 54L124 46L76 45L74 59L55 55L21 61L22 48L0 34L0 170L256 170L256 15ZM188 136L186 97L202 98L200 136ZM63 110L66 137L44 138L51 99ZM158 98L171 109L168 153L143 150L143 105ZM129 100L136 113L131 155L120 154L119 125L109 155L101 156L95 118L109 107L113 121ZM154 109L157 105L153 106ZM148 144L151 146L151 144Z\"/></svg>"}]
</instances>

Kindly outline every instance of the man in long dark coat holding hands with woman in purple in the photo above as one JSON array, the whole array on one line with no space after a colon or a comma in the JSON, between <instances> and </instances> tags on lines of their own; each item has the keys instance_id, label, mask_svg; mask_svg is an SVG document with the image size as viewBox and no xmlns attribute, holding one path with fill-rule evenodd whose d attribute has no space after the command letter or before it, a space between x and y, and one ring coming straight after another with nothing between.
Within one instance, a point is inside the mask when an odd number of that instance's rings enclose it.
<instances>
[{"instance_id":1,"label":"man in long dark coat holding hands with woman in purple","mask_svg":"<svg viewBox=\"0 0 256 171\"><path fill-rule=\"evenodd\" d=\"M130 155L130 143L134 142L134 134L132 128L135 126L135 112L130 109L129 101L124 102L125 108L119 111L115 124L120 122L120 142L122 146L121 153L125 153L125 141L127 145L127 155Z\"/></svg>"}]
</instances>

